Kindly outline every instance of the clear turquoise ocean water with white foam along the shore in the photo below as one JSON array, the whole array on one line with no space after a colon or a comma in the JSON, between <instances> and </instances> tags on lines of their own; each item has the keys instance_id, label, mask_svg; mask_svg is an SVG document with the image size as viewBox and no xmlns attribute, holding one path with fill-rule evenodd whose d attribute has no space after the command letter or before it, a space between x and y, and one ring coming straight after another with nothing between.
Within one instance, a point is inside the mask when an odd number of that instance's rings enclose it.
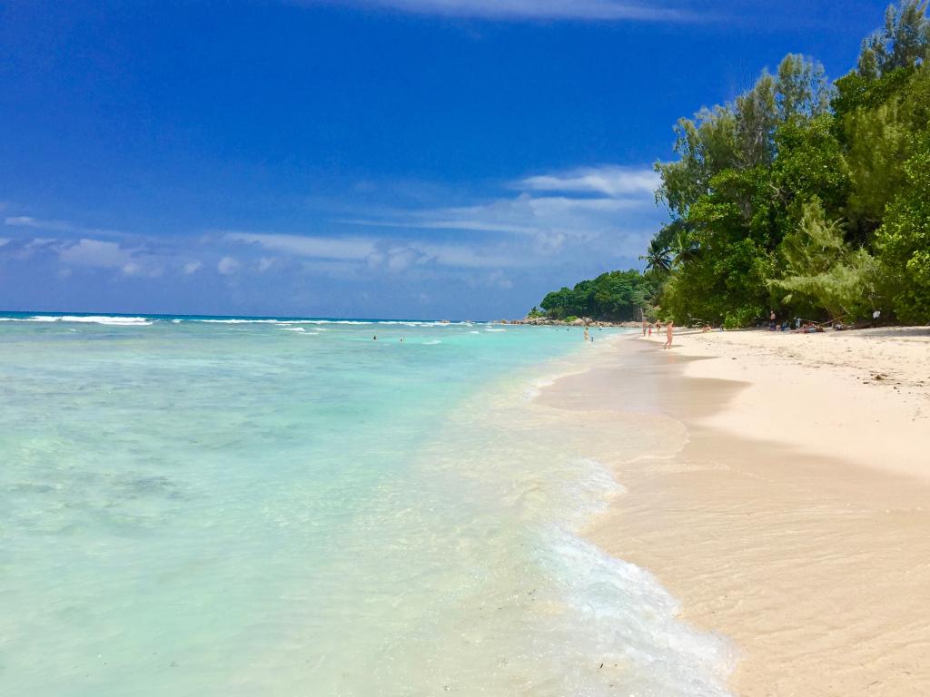
<instances>
[{"instance_id":1,"label":"clear turquoise ocean water with white foam along the shore","mask_svg":"<svg viewBox=\"0 0 930 697\"><path fill-rule=\"evenodd\" d=\"M609 335L0 314L0 693L724 695L533 411Z\"/></svg>"}]
</instances>

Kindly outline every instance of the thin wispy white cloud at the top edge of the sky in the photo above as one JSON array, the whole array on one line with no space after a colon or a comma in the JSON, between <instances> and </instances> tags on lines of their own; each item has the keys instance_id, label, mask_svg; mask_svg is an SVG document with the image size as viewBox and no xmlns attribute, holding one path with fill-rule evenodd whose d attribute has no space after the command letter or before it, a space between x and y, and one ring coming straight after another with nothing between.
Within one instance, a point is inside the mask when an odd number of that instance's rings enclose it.
<instances>
[{"instance_id":1,"label":"thin wispy white cloud at the top edge of the sky","mask_svg":"<svg viewBox=\"0 0 930 697\"><path fill-rule=\"evenodd\" d=\"M313 0L304 0L305 3ZM319 1L319 0L318 0ZM333 0L329 0L332 2ZM418 14L489 20L671 20L689 16L658 3L633 0L351 0Z\"/></svg>"}]
</instances>

